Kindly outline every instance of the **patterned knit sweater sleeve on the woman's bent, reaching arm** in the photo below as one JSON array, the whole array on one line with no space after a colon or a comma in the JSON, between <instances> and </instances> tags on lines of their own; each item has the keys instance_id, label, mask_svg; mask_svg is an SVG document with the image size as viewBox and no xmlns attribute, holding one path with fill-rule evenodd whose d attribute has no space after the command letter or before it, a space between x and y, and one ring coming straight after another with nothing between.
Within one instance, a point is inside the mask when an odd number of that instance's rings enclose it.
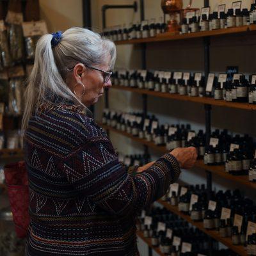
<instances>
[{"instance_id":1,"label":"patterned knit sweater sleeve on the woman's bent, reaching arm","mask_svg":"<svg viewBox=\"0 0 256 256\"><path fill-rule=\"evenodd\" d=\"M129 175L104 137L90 138L63 159L60 167L74 188L92 204L120 215L152 204L180 174L175 157L165 154L147 171Z\"/></svg>"}]
</instances>

